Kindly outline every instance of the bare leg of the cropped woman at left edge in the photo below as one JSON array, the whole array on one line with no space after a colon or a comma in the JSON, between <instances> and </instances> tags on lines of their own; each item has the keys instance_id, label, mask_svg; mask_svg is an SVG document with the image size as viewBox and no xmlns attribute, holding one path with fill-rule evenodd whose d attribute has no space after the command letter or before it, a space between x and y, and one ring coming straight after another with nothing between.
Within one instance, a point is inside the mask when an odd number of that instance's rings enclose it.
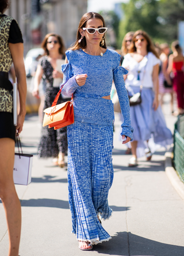
<instances>
[{"instance_id":1,"label":"bare leg of the cropped woman at left edge","mask_svg":"<svg viewBox=\"0 0 184 256\"><path fill-rule=\"evenodd\" d=\"M21 235L21 204L13 182L14 146L12 139L0 139L0 197L9 232L8 256L18 256Z\"/></svg>"}]
</instances>

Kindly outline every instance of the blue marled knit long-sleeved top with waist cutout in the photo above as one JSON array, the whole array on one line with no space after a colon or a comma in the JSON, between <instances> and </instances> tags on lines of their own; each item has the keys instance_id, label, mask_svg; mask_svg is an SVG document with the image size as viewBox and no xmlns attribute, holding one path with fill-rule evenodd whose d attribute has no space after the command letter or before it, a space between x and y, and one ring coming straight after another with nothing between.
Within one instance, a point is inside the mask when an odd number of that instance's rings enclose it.
<instances>
[{"instance_id":1,"label":"blue marled knit long-sleeved top with waist cutout","mask_svg":"<svg viewBox=\"0 0 184 256\"><path fill-rule=\"evenodd\" d=\"M120 66L120 55L109 49L103 56L89 55L79 49L66 51L66 56L68 63L62 65L62 94L72 96L74 93L74 120L97 125L113 125L113 103L102 97L110 95L114 80L124 116L121 135L133 140L129 100L123 78L123 74L127 74L128 71ZM75 77L78 74L87 74L85 85L79 86L76 83Z\"/></svg>"}]
</instances>

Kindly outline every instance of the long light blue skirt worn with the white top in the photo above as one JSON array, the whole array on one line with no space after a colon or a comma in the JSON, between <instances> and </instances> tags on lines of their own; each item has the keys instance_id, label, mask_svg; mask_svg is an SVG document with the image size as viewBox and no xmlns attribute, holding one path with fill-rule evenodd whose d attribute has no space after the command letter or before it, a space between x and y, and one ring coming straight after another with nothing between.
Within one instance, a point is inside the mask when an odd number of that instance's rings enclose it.
<instances>
[{"instance_id":1,"label":"long light blue skirt worn with the white top","mask_svg":"<svg viewBox=\"0 0 184 256\"><path fill-rule=\"evenodd\" d=\"M134 93L140 91L139 86L129 87ZM145 155L144 149L147 146L154 153L160 146L166 148L173 142L171 131L166 126L161 107L159 106L156 111L152 108L154 97L151 88L143 88L141 104L131 107L131 126L134 128L133 140L138 141L137 157Z\"/></svg>"}]
</instances>

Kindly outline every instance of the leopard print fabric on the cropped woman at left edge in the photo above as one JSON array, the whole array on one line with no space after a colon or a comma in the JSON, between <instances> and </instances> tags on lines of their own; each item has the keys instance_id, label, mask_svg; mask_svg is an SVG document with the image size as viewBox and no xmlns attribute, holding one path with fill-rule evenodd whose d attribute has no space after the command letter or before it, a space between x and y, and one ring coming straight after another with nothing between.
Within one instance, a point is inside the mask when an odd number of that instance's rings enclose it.
<instances>
[{"instance_id":1,"label":"leopard print fabric on the cropped woman at left edge","mask_svg":"<svg viewBox=\"0 0 184 256\"><path fill-rule=\"evenodd\" d=\"M13 62L8 44L11 21L13 18L0 13L0 71L4 72L9 72ZM12 92L0 87L0 112L12 113L12 111Z\"/></svg>"}]
</instances>

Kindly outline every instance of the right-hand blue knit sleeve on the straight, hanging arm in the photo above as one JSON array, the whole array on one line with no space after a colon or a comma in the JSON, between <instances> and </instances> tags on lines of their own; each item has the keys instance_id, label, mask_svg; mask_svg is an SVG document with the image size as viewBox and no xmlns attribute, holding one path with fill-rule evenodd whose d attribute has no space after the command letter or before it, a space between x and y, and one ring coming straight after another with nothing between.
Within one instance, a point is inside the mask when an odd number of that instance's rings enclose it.
<instances>
[{"instance_id":1,"label":"right-hand blue knit sleeve on the straight, hanging arm","mask_svg":"<svg viewBox=\"0 0 184 256\"><path fill-rule=\"evenodd\" d=\"M113 69L113 79L116 86L118 99L120 101L121 112L124 117L124 123L122 123L121 135L126 135L133 140L133 127L131 126L131 115L127 89L125 88L125 82L123 75L127 74L128 70L120 66L120 56L117 61L116 67Z\"/></svg>"}]
</instances>

